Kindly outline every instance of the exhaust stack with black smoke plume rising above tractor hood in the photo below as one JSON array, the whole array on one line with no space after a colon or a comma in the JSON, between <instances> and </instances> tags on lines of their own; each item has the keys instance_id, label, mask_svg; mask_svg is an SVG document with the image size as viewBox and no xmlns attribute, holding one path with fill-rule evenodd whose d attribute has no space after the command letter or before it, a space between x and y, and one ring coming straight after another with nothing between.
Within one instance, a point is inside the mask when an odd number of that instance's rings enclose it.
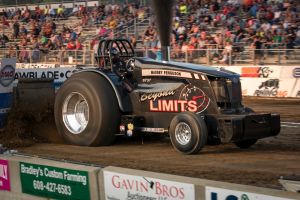
<instances>
[{"instance_id":1,"label":"exhaust stack with black smoke plume rising above tractor hood","mask_svg":"<svg viewBox=\"0 0 300 200\"><path fill-rule=\"evenodd\" d=\"M161 43L162 60L170 60L170 35L175 0L152 0Z\"/></svg>"}]
</instances>

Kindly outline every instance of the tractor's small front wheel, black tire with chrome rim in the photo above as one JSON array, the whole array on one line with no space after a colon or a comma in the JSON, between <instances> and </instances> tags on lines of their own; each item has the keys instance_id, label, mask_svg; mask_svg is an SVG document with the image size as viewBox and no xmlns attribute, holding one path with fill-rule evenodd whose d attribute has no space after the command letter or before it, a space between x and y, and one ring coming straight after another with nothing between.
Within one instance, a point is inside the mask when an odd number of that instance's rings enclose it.
<instances>
[{"instance_id":1,"label":"tractor's small front wheel, black tire with chrome rim","mask_svg":"<svg viewBox=\"0 0 300 200\"><path fill-rule=\"evenodd\" d=\"M207 142L207 127L195 113L183 112L176 115L169 128L173 147L184 154L198 153Z\"/></svg>"}]
</instances>

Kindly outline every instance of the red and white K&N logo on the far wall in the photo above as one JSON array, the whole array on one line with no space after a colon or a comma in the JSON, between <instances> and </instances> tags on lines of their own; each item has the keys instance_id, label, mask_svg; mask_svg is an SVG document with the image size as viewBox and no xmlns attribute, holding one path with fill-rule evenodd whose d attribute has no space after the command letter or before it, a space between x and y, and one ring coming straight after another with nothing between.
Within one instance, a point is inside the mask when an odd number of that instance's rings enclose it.
<instances>
[{"instance_id":1,"label":"red and white K&N logo on the far wall","mask_svg":"<svg viewBox=\"0 0 300 200\"><path fill-rule=\"evenodd\" d=\"M268 78L274 71L270 67L242 67L242 77Z\"/></svg>"}]
</instances>

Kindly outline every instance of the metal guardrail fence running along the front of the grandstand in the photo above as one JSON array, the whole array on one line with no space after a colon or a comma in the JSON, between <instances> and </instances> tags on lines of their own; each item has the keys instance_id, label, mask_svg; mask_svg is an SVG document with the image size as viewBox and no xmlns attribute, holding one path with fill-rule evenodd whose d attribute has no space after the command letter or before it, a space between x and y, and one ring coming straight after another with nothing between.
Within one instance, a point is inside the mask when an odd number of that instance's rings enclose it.
<instances>
[{"instance_id":1,"label":"metal guardrail fence running along the front of the grandstand","mask_svg":"<svg viewBox=\"0 0 300 200\"><path fill-rule=\"evenodd\" d=\"M137 56L150 57L160 60L159 49L137 49ZM187 49L171 50L171 59L180 62L190 62L207 65L278 65L299 64L300 49L248 49L241 52L230 51L224 53L224 49ZM80 64L94 65L95 54L92 50L11 50L0 49L1 57L17 57L21 63L53 63L53 64Z\"/></svg>"}]
</instances>

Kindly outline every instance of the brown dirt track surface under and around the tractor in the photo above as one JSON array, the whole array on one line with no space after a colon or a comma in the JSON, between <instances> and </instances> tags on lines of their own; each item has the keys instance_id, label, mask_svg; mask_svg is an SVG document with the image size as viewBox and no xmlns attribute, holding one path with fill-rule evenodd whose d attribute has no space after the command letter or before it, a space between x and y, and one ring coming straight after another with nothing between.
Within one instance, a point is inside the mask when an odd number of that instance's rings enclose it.
<instances>
[{"instance_id":1,"label":"brown dirt track surface under and around the tractor","mask_svg":"<svg viewBox=\"0 0 300 200\"><path fill-rule=\"evenodd\" d=\"M256 112L281 114L283 122L300 122L300 99L244 98ZM282 123L283 124L283 123ZM233 144L205 146L197 155L176 152L168 137L119 138L109 147L65 145L51 123L34 132L50 142L18 147L21 153L100 166L119 166L269 188L281 188L280 176L300 175L300 125L282 126L278 136L259 140L246 150ZM21 145L22 146L22 145Z\"/></svg>"}]
</instances>

